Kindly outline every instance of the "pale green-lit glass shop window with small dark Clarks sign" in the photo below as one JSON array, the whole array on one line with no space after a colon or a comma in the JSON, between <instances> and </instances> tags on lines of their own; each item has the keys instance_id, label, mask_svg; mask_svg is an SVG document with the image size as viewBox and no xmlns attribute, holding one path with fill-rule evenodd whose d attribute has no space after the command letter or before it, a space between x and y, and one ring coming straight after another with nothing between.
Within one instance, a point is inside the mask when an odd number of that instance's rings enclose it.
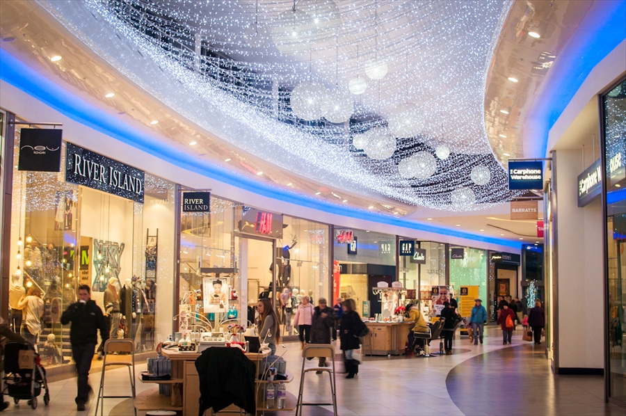
<instances>
[{"instance_id":1,"label":"pale green-lit glass shop window with small dark Clarks sign","mask_svg":"<svg viewBox=\"0 0 626 416\"><path fill-rule=\"evenodd\" d=\"M455 258L463 250L463 258ZM458 300L460 286L478 286L479 298L487 299L487 252L470 247L450 247L450 286Z\"/></svg>"}]
</instances>

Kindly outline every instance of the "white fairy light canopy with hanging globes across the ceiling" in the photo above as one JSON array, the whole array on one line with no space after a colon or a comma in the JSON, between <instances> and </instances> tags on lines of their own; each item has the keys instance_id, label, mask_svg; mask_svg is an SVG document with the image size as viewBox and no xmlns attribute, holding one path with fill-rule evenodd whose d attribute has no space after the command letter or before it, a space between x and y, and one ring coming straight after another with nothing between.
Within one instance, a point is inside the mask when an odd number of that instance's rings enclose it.
<instances>
[{"instance_id":1,"label":"white fairy light canopy with hanging globes across the ceiling","mask_svg":"<svg viewBox=\"0 0 626 416\"><path fill-rule=\"evenodd\" d=\"M436 209L513 197L483 109L510 1L39 3L163 104L275 166Z\"/></svg>"}]
</instances>

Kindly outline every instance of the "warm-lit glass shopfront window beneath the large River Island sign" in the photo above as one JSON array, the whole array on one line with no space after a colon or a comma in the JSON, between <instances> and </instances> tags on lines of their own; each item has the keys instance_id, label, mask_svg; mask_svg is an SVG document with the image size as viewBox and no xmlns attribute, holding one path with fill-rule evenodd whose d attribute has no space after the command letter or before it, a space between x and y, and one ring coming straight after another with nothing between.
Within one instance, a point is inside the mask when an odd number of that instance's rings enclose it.
<instances>
[{"instance_id":1,"label":"warm-lit glass shopfront window beneath the large River Island sign","mask_svg":"<svg viewBox=\"0 0 626 416\"><path fill-rule=\"evenodd\" d=\"M16 166L19 139L17 129ZM146 174L141 203L92 189L88 180L72 184L65 181L66 150L63 143L59 173L13 173L10 322L38 346L45 365L70 360L61 314L76 301L77 287L90 285L111 336L152 350L172 328L174 185ZM40 326L26 324L24 302L40 305Z\"/></svg>"}]
</instances>

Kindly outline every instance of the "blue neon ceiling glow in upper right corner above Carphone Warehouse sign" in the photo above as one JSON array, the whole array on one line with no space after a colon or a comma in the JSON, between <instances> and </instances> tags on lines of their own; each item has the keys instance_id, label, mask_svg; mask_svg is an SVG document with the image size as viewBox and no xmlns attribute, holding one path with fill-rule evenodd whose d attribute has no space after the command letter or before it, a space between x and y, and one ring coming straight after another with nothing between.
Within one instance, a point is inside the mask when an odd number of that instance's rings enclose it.
<instances>
[{"instance_id":1,"label":"blue neon ceiling glow in upper right corner above Carphone Warehouse sign","mask_svg":"<svg viewBox=\"0 0 626 416\"><path fill-rule=\"evenodd\" d=\"M538 119L537 146L533 157L546 157L550 129L582 86L593 68L626 39L626 0L599 1L583 19L579 28L585 36L570 39L556 57L549 77L549 93L541 97L533 115ZM607 82L611 80L607 79Z\"/></svg>"}]
</instances>

